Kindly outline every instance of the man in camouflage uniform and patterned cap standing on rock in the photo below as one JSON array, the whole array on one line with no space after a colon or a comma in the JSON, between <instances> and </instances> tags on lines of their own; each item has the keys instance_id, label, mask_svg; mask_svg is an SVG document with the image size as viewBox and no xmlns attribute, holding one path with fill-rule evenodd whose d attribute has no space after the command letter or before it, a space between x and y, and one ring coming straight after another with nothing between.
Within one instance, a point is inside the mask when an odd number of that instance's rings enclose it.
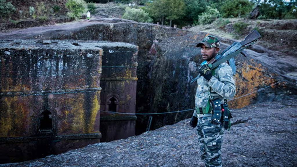
<instances>
[{"instance_id":1,"label":"man in camouflage uniform and patterned cap standing on rock","mask_svg":"<svg viewBox=\"0 0 297 167\"><path fill-rule=\"evenodd\" d=\"M198 87L195 96L196 110L192 116L190 125L196 127L200 143L200 156L206 167L222 166L222 118L217 119L214 108L221 106L235 95L235 83L231 67L222 63L213 70L207 65L219 52L220 42L217 37L208 35L197 47L201 48L201 56L204 62L199 73ZM215 102L215 104L213 104ZM221 107L219 107L221 112ZM221 117L221 116L220 116Z\"/></svg>"}]
</instances>

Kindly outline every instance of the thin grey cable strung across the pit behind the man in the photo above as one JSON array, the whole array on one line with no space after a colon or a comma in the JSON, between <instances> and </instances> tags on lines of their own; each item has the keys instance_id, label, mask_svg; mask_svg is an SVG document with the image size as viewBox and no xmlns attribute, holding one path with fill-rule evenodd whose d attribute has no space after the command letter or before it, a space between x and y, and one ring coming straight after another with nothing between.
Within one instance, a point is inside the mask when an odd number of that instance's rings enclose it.
<instances>
[{"instance_id":1,"label":"thin grey cable strung across the pit behind the man","mask_svg":"<svg viewBox=\"0 0 297 167\"><path fill-rule=\"evenodd\" d=\"M278 81L277 83L280 83L280 82L283 82L283 81L287 81L287 80L282 80L282 81ZM251 92L249 94L245 94L243 96L240 96L240 97L236 97L234 99L231 99L231 100L236 100L236 99L239 99L241 97L245 97L245 96L248 96L250 94L253 94L255 92L260 92L262 91L263 89L266 89L266 88L269 88L277 83L274 83L274 84L271 84L269 86L266 86L262 89L259 89L257 91L254 91L254 92ZM231 101L231 100L228 100L228 101ZM192 109L188 109L188 110L181 110L181 111L172 111L172 112L163 112L163 113L121 113L121 112L114 112L114 111L103 111L103 110L100 110L100 112L107 112L107 113L112 113L112 114L128 114L128 115L155 115L155 114L171 114L171 113L178 113L178 112L184 112L184 111L191 111L191 110L195 110L195 108L192 108Z\"/></svg>"}]
</instances>

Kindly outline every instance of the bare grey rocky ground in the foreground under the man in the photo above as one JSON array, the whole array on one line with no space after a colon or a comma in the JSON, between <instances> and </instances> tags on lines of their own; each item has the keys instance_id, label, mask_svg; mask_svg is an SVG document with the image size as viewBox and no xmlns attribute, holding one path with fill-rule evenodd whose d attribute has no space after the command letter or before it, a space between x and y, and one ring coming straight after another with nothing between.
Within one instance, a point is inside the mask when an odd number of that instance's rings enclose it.
<instances>
[{"instance_id":1,"label":"bare grey rocky ground in the foreground under the man","mask_svg":"<svg viewBox=\"0 0 297 167\"><path fill-rule=\"evenodd\" d=\"M233 125L224 132L224 167L297 166L297 100L256 103L232 110ZM0 164L24 166L203 166L196 130L190 119L154 131L111 142L97 143L38 160Z\"/></svg>"}]
</instances>

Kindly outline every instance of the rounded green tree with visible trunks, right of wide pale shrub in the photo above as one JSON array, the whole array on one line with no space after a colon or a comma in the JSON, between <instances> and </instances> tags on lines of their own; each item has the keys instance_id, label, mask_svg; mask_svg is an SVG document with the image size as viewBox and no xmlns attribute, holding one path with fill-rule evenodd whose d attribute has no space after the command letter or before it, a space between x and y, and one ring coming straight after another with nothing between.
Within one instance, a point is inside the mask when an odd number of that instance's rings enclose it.
<instances>
[{"instance_id":1,"label":"rounded green tree with visible trunks, right of wide pale shrub","mask_svg":"<svg viewBox=\"0 0 297 167\"><path fill-rule=\"evenodd\" d=\"M165 20L180 19L185 15L186 6L183 0L156 0L148 4L147 11L155 20L160 20L162 25Z\"/></svg>"}]
</instances>

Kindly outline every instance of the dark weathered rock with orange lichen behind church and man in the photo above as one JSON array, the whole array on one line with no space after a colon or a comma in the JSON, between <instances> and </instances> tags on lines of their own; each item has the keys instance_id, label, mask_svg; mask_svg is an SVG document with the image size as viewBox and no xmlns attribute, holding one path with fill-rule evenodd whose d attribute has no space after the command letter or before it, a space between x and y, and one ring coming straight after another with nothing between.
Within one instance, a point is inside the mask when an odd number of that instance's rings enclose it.
<instances>
[{"instance_id":1,"label":"dark weathered rock with orange lichen behind church and man","mask_svg":"<svg viewBox=\"0 0 297 167\"><path fill-rule=\"evenodd\" d=\"M71 29L69 26L57 26L38 28L35 33L32 33L32 30L31 33L28 31L9 33L6 37L108 40L138 45L136 113L168 112L168 114L154 115L151 129L172 124L192 115L192 111L169 112L194 108L197 84L190 81L191 76L197 75L201 62L200 49L195 47L195 43L202 40L206 33L122 19L73 24ZM5 37L5 34L1 37ZM234 42L228 39L221 40L223 42L221 51ZM286 75L296 70L296 64L285 62L280 59L277 52L257 45L246 51L249 53L248 57L236 57L236 97L255 92L283 79L288 81L279 82L264 91L232 100L229 104L233 108L241 108L254 102L279 100L285 95L296 93L296 79ZM136 134L145 130L147 120L148 116L138 116L136 124L141 130Z\"/></svg>"}]
</instances>

